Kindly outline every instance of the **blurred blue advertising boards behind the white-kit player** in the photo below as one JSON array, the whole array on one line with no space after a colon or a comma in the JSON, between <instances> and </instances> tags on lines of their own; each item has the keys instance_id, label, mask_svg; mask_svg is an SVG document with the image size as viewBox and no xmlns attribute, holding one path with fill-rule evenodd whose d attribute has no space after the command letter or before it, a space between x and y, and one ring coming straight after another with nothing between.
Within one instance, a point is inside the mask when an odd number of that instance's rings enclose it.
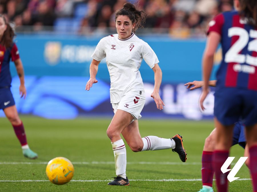
<instances>
[{"instance_id":1,"label":"blurred blue advertising boards behind the white-kit player","mask_svg":"<svg viewBox=\"0 0 257 192\"><path fill-rule=\"evenodd\" d=\"M154 73L143 61L140 73L146 91L144 116L202 119L212 117L213 93L206 101L206 110L200 112L200 90L188 91L185 82L201 79L201 58L204 40L172 40L142 37L155 51L160 61L163 79L160 95L165 103L161 112L150 94L154 87ZM18 35L15 42L23 61L27 98L19 98L19 78L15 67L12 92L19 113L45 118L70 119L79 115L112 115L109 88L110 77L101 61L97 74L98 83L85 91L89 79L91 55L98 39L79 36L28 36ZM221 58L220 51L216 62ZM214 76L212 75L212 79ZM0 116L3 116L3 111Z\"/></svg>"}]
</instances>

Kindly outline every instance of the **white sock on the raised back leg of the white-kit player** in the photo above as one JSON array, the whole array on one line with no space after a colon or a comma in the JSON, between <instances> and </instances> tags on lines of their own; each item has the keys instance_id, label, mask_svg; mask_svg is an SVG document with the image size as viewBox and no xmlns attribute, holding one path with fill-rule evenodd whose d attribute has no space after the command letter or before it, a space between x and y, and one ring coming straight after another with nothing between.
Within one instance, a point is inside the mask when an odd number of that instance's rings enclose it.
<instances>
[{"instance_id":1,"label":"white sock on the raised back leg of the white-kit player","mask_svg":"<svg viewBox=\"0 0 257 192\"><path fill-rule=\"evenodd\" d=\"M156 136L147 136L142 138L142 140L144 143L142 151L154 151L175 148L175 141L173 139L164 139Z\"/></svg>"}]
</instances>

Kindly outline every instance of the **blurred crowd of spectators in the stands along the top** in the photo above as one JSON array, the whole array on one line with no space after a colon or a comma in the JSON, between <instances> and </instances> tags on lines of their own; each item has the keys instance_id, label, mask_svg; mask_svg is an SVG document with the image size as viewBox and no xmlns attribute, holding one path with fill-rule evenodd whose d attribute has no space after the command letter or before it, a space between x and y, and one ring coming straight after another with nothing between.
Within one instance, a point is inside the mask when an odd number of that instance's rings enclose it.
<instances>
[{"instance_id":1,"label":"blurred crowd of spectators in the stands along the top","mask_svg":"<svg viewBox=\"0 0 257 192\"><path fill-rule=\"evenodd\" d=\"M0 13L16 27L55 26L63 18L78 23L80 34L115 27L114 15L126 0L0 0ZM233 9L233 0L133 0L148 15L145 28L168 32L177 38L204 34L208 22L218 13ZM80 8L80 9L78 9ZM75 19L75 20L72 20Z\"/></svg>"}]
</instances>

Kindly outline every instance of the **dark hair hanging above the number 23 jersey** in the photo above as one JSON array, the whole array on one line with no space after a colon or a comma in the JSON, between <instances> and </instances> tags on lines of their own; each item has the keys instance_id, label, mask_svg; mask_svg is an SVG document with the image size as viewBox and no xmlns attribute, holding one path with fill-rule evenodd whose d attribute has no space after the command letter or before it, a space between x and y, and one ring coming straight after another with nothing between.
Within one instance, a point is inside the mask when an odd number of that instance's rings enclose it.
<instances>
[{"instance_id":1,"label":"dark hair hanging above the number 23 jersey","mask_svg":"<svg viewBox=\"0 0 257 192\"><path fill-rule=\"evenodd\" d=\"M257 1L240 0L240 15L247 18L248 24L257 26Z\"/></svg>"}]
</instances>

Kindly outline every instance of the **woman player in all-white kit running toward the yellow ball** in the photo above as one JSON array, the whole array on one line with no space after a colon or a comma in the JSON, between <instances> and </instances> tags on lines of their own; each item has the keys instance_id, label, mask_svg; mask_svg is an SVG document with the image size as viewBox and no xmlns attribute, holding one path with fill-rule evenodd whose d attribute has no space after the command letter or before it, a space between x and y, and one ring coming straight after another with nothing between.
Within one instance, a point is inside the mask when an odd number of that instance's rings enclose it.
<instances>
[{"instance_id":1,"label":"woman player in all-white kit running toward the yellow ball","mask_svg":"<svg viewBox=\"0 0 257 192\"><path fill-rule=\"evenodd\" d=\"M126 177L126 148L120 134L134 152L172 148L172 151L179 154L182 162L186 161L182 136L175 135L171 139L156 136L141 138L139 133L138 119L145 103L144 86L138 70L142 59L154 71L155 84L151 97L157 109L162 110L164 106L159 95L162 72L158 58L150 46L134 34L145 18L143 11L136 10L131 3L125 3L115 13L118 34L101 39L92 55L86 90L90 90L93 83L97 83L98 65L105 57L111 79L110 97L115 115L107 129L107 135L114 151L117 177L108 185L129 185Z\"/></svg>"}]
</instances>

